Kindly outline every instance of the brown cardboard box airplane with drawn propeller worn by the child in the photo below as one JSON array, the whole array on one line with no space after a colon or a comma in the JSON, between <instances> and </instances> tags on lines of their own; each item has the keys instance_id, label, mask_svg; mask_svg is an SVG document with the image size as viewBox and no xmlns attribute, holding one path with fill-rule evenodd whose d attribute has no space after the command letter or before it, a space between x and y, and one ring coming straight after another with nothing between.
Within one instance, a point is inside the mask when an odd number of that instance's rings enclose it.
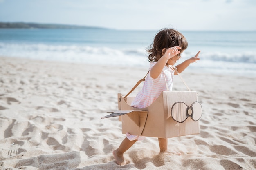
<instances>
[{"instance_id":1,"label":"brown cardboard box airplane with drawn propeller worn by the child","mask_svg":"<svg viewBox=\"0 0 256 170\"><path fill-rule=\"evenodd\" d=\"M122 133L147 137L170 138L199 134L202 106L195 91L163 91L157 100L146 108L133 108L118 94L119 110L106 117L120 116Z\"/></svg>"}]
</instances>

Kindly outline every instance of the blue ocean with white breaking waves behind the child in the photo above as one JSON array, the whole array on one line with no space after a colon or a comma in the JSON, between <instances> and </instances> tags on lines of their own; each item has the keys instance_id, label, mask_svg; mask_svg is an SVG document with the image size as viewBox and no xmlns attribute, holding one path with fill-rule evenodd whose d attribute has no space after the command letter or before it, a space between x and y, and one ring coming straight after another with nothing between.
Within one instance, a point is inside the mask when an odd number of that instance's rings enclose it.
<instances>
[{"instance_id":1,"label":"blue ocean with white breaking waves behind the child","mask_svg":"<svg viewBox=\"0 0 256 170\"><path fill-rule=\"evenodd\" d=\"M256 76L256 31L182 31L195 56L188 71ZM0 56L111 66L148 67L146 48L157 30L0 29Z\"/></svg>"}]
</instances>

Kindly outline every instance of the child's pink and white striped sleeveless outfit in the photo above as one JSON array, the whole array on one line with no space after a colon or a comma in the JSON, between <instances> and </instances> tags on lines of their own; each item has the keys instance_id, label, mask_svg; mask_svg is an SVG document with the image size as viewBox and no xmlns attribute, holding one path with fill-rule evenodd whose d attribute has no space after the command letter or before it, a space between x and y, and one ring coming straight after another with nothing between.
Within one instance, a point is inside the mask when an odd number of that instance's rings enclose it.
<instances>
[{"instance_id":1,"label":"child's pink and white striped sleeveless outfit","mask_svg":"<svg viewBox=\"0 0 256 170\"><path fill-rule=\"evenodd\" d=\"M156 62L150 62L150 69L156 64ZM166 82L165 79L166 78ZM164 66L162 73L156 79L153 79L150 74L145 79L141 91L136 95L132 101L131 106L135 108L145 108L155 102L162 91L167 91L166 83L169 91L173 88L174 70L168 66ZM143 141L144 136L131 135L126 133L126 137L130 140Z\"/></svg>"}]
</instances>

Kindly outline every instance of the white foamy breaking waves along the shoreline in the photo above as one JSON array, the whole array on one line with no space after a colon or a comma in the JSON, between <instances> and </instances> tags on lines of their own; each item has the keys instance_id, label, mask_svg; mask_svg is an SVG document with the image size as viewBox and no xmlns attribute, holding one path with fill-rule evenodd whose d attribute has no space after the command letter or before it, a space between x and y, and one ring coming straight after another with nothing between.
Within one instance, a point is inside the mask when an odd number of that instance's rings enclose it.
<instances>
[{"instance_id":1,"label":"white foamy breaking waves along the shoreline","mask_svg":"<svg viewBox=\"0 0 256 170\"><path fill-rule=\"evenodd\" d=\"M184 51L177 64L195 56L195 51ZM112 49L109 47L93 47L83 45L54 45L32 43L1 43L0 55L26 57L36 60L52 60L62 62L82 62L113 66L143 66L148 67L145 48ZM191 64L191 68L201 68L211 72L235 72L240 67L243 71L256 75L256 52L226 53L202 51L200 62ZM221 71L220 71L221 72Z\"/></svg>"}]
</instances>

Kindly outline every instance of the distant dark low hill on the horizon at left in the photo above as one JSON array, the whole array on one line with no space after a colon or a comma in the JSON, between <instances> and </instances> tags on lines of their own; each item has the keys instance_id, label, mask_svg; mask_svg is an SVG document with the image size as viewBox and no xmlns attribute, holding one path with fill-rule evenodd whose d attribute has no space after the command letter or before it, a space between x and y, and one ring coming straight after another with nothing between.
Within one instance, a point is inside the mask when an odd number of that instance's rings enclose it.
<instances>
[{"instance_id":1,"label":"distant dark low hill on the horizon at left","mask_svg":"<svg viewBox=\"0 0 256 170\"><path fill-rule=\"evenodd\" d=\"M17 29L105 29L93 26L77 26L65 24L38 24L26 22L0 22L0 29L3 28L17 28Z\"/></svg>"}]
</instances>

